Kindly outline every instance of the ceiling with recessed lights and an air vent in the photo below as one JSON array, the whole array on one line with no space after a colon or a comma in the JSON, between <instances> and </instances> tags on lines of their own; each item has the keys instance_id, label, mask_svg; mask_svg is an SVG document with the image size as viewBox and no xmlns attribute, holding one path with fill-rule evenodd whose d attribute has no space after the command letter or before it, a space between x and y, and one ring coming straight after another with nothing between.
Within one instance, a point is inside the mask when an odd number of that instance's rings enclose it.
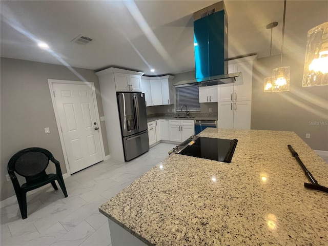
<instances>
[{"instance_id":1,"label":"ceiling with recessed lights and an air vent","mask_svg":"<svg viewBox=\"0 0 328 246\"><path fill-rule=\"evenodd\" d=\"M219 1L1 1L1 56L77 68L111 66L147 75L195 69L193 13ZM229 58L280 54L283 1L225 0ZM284 52L302 50L328 20L328 1L287 1ZM82 34L93 41L78 45ZM50 49L36 46L46 42ZM298 46L298 44L301 44ZM155 73L150 72L154 68Z\"/></svg>"}]
</instances>

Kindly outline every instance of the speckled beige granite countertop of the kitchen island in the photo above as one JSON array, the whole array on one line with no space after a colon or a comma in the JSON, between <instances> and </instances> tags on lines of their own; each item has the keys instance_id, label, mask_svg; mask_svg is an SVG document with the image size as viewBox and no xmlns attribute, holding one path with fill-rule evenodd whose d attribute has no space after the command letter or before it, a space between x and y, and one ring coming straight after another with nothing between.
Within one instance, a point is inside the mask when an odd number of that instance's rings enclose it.
<instances>
[{"instance_id":1,"label":"speckled beige granite countertop of the kitchen island","mask_svg":"<svg viewBox=\"0 0 328 246\"><path fill-rule=\"evenodd\" d=\"M287 145L326 187L328 165L294 132L199 135L237 138L231 163L171 154L99 208L110 224L140 245L328 245L328 194L304 188Z\"/></svg>"}]
</instances>

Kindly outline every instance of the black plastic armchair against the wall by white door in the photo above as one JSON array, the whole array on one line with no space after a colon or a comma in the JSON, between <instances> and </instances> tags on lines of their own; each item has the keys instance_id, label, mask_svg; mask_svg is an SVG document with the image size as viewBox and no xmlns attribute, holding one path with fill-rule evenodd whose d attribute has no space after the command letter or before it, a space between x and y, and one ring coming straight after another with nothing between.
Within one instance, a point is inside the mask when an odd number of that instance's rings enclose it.
<instances>
[{"instance_id":1,"label":"black plastic armchair against the wall by white door","mask_svg":"<svg viewBox=\"0 0 328 246\"><path fill-rule=\"evenodd\" d=\"M51 160L56 166L56 173L47 174L46 168ZM25 177L26 183L22 186L19 185L15 172L20 176ZM67 191L61 174L59 161L57 161L53 155L43 148L28 148L18 151L13 155L8 163L8 174L14 186L17 196L20 213L22 218L27 218L27 204L26 193L36 188L42 187L51 183L55 190L58 190L55 180L57 180L61 190L65 197L67 197Z\"/></svg>"}]
</instances>

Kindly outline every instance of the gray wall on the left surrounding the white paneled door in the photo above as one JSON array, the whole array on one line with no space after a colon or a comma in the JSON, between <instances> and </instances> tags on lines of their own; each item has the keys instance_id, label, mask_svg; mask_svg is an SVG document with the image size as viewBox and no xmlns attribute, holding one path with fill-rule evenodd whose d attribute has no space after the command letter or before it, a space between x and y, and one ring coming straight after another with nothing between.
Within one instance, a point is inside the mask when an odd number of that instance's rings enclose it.
<instances>
[{"instance_id":1,"label":"gray wall on the left surrounding the white paneled door","mask_svg":"<svg viewBox=\"0 0 328 246\"><path fill-rule=\"evenodd\" d=\"M92 70L75 69L94 82L99 116L104 116L98 76ZM29 147L48 149L67 173L50 97L48 79L79 80L64 66L1 58L1 200L15 195L6 180L7 164L17 151ZM104 122L101 122L105 153L109 154ZM50 134L45 134L45 127Z\"/></svg>"}]
</instances>

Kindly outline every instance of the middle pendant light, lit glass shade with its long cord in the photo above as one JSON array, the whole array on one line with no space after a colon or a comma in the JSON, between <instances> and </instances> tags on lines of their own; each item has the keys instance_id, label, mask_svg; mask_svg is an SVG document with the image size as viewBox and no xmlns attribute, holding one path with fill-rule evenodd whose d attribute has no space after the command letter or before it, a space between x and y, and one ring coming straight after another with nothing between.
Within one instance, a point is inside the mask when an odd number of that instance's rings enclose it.
<instances>
[{"instance_id":1,"label":"middle pendant light, lit glass shade with its long cord","mask_svg":"<svg viewBox=\"0 0 328 246\"><path fill-rule=\"evenodd\" d=\"M290 67L282 67L282 53L283 53L283 38L285 32L285 17L286 17L286 0L283 5L283 20L282 20L282 36L281 36L281 57L280 67L272 71L273 87L272 92L289 91L290 84Z\"/></svg>"}]
</instances>

